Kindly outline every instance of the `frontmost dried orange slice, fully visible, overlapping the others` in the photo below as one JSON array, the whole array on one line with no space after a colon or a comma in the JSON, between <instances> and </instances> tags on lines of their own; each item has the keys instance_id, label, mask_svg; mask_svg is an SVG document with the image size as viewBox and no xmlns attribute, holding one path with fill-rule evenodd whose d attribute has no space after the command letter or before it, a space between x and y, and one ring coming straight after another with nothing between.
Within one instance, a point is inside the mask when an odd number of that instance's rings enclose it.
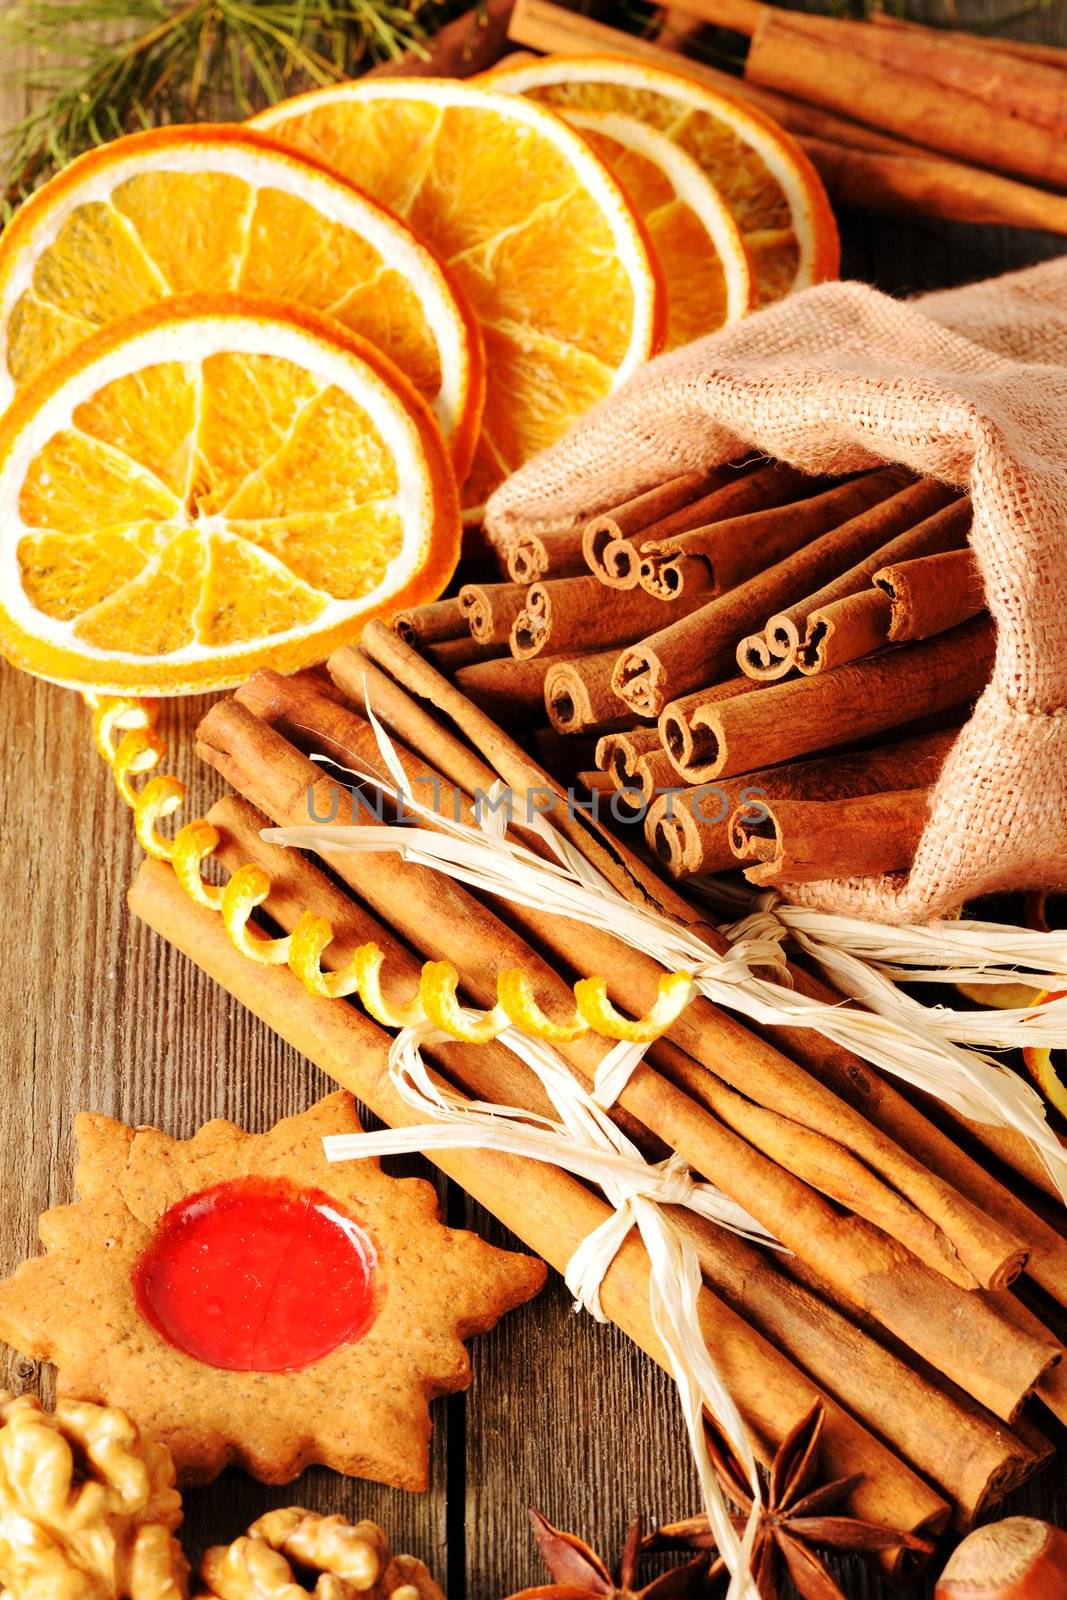
<instances>
[{"instance_id":1,"label":"frontmost dried orange slice, fully visible, overlapping the others","mask_svg":"<svg viewBox=\"0 0 1067 1600\"><path fill-rule=\"evenodd\" d=\"M178 694L291 670L437 595L458 555L426 402L317 312L162 301L0 418L0 650L61 683Z\"/></svg>"}]
</instances>

